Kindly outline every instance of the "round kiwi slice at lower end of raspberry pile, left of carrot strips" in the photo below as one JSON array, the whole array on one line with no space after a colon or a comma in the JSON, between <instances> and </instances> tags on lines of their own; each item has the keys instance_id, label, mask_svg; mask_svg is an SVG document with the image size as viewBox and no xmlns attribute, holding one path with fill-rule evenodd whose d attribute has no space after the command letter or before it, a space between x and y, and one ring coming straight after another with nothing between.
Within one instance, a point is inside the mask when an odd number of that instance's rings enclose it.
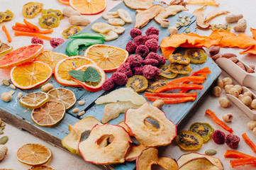
<instances>
[{"instance_id":1,"label":"round kiwi slice at lower end of raspberry pile, left of carrot strips","mask_svg":"<svg viewBox=\"0 0 256 170\"><path fill-rule=\"evenodd\" d=\"M136 92L145 91L148 88L148 79L140 75L134 75L128 79L126 87L130 87Z\"/></svg>"}]
</instances>

